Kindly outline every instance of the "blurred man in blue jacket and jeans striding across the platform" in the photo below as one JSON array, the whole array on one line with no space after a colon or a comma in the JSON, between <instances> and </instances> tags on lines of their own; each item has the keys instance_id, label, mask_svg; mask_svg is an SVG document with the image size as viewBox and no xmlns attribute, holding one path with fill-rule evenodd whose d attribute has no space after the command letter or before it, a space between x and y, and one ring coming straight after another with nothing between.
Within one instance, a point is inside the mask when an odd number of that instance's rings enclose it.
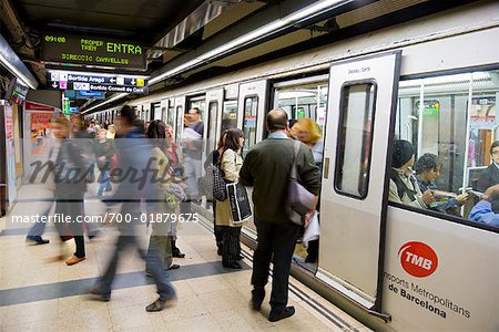
<instances>
[{"instance_id":1,"label":"blurred man in blue jacket and jeans striding across the platform","mask_svg":"<svg viewBox=\"0 0 499 332\"><path fill-rule=\"evenodd\" d=\"M119 134L122 137L116 142L120 152L120 168L123 174L133 173L133 170L144 170L144 167L152 159L152 146L145 141L142 128L138 125L135 111L130 106L123 106L120 116L116 120ZM144 176L144 174L142 174ZM152 196L152 180L138 181L135 176L128 176L120 180L120 186L113 196L113 200L122 203L121 216L125 218L130 216L132 222L120 222L120 236L116 247L111 256L111 261L100 278L98 283L90 290L90 293L96 297L96 300L109 301L111 298L111 284L116 274L116 268L120 256L128 247L138 249L140 256L146 261L147 269L157 287L160 298L145 308L146 311L161 311L167 302L176 299L175 290L163 272L163 264L155 251L146 255L145 250L140 248L139 239L135 235L139 225L134 225L134 220L141 220L141 203L144 195Z\"/></svg>"}]
</instances>

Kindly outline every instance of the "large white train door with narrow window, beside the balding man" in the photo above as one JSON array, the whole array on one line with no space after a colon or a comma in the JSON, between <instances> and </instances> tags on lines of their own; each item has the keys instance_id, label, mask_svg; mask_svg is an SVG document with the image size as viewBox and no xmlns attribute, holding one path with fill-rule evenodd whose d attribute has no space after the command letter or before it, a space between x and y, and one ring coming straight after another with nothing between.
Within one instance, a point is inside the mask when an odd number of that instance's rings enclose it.
<instances>
[{"instance_id":1,"label":"large white train door with narrow window, beside the balding man","mask_svg":"<svg viewBox=\"0 0 499 332\"><path fill-rule=\"evenodd\" d=\"M377 312L400 53L338 62L329 76L317 277Z\"/></svg>"}]
</instances>

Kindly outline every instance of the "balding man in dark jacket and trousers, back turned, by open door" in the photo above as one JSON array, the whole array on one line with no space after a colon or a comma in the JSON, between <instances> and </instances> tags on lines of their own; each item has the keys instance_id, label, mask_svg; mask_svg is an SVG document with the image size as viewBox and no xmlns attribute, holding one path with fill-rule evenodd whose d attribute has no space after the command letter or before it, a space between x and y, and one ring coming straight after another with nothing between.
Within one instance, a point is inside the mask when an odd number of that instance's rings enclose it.
<instances>
[{"instance_id":1,"label":"balding man in dark jacket and trousers, back turned, by open door","mask_svg":"<svg viewBox=\"0 0 499 332\"><path fill-rule=\"evenodd\" d=\"M285 209L295 142L286 135L288 131L286 112L283 110L268 112L266 126L271 133L267 139L256 144L247 153L240 170L240 183L254 186L254 220L258 245L253 256L252 305L254 310L261 309L273 259L268 320L276 322L295 313L293 307L286 305L291 261L301 226L291 221ZM296 166L302 185L314 195L318 195L319 169L315 165L310 149L304 144L301 144Z\"/></svg>"}]
</instances>

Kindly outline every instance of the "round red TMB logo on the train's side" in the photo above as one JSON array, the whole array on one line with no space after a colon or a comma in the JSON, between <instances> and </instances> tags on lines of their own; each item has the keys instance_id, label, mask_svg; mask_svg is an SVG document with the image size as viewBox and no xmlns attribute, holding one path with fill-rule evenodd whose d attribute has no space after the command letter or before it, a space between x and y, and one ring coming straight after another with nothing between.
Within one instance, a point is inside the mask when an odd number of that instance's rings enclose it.
<instances>
[{"instance_id":1,"label":"round red TMB logo on the train's side","mask_svg":"<svg viewBox=\"0 0 499 332\"><path fill-rule=\"evenodd\" d=\"M437 253L426 243L407 242L398 250L400 264L413 277L428 277L437 270Z\"/></svg>"}]
</instances>

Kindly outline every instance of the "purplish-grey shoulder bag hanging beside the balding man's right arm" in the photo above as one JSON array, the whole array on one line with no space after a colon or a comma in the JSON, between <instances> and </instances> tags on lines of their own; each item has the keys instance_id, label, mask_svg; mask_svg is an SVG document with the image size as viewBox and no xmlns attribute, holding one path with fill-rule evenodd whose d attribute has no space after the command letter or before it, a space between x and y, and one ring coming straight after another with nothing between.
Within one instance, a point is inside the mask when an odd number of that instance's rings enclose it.
<instances>
[{"instance_id":1,"label":"purplish-grey shoulder bag hanging beside the balding man's right arm","mask_svg":"<svg viewBox=\"0 0 499 332\"><path fill-rule=\"evenodd\" d=\"M298 156L299 145L299 141L295 141L287 203L289 220L296 225L303 226L305 215L314 209L315 195L308 191L298 181L296 157Z\"/></svg>"}]
</instances>

